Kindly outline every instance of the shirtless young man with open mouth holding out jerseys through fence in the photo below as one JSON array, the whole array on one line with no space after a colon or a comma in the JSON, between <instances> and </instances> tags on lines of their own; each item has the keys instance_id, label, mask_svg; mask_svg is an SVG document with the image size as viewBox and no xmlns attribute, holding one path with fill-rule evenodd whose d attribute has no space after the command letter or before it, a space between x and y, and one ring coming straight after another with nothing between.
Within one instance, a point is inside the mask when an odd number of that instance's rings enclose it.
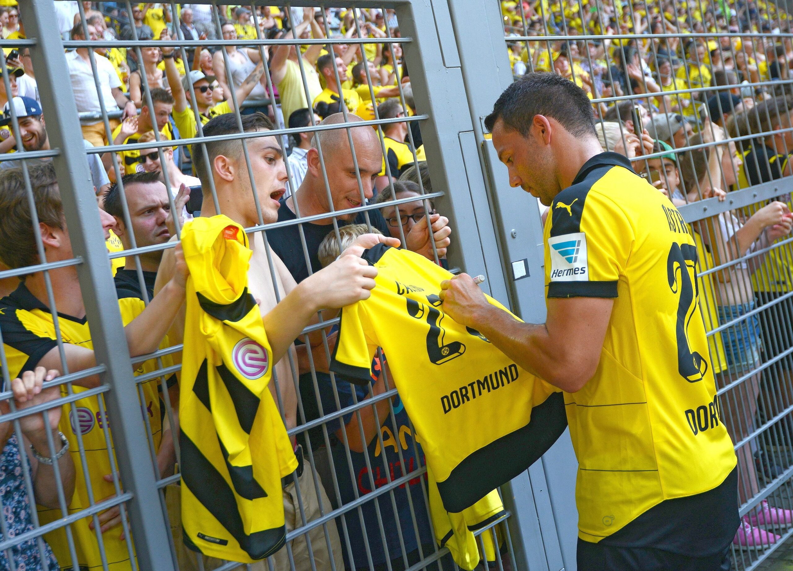
<instances>
[{"instance_id":1,"label":"shirtless young man with open mouth holding out jerseys through fence","mask_svg":"<svg viewBox=\"0 0 793 571\"><path fill-rule=\"evenodd\" d=\"M242 122L244 132L266 132L273 128L270 120L262 113L243 115ZM232 114L215 117L207 123L204 130L205 136L237 132L239 132L237 117ZM255 177L252 181L249 178L248 165L240 140L204 143L212 170L208 171L203 161L196 163L196 172L201 178L201 188L205 194L201 216L211 217L222 213L241 224L243 228L251 228L262 223L270 224L278 219L280 206L278 201L285 193L287 180L278 139L275 136L264 135L246 141L248 156L251 159L250 167ZM220 212L215 209L210 190L213 186ZM257 209L254 201L254 190L259 197L260 210ZM383 236L367 235L364 240L358 242L356 251L362 251L363 247L374 246L380 241L393 243L389 240L391 239ZM349 305L368 297L368 289L374 287L372 278L377 273L376 270L372 272L374 268L368 266L357 255L343 255L324 270L297 284L274 251L271 252L271 259L275 274L270 274L270 262L261 233L253 234L250 243L253 255L248 269L248 289L259 302L270 344L276 347L280 343L288 347L286 351L282 351L282 355L288 352L291 358L297 359L292 343L306 325L316 320L316 313L320 309ZM167 251L163 255L155 291L161 283L169 279L172 262L173 255ZM324 317L327 319L327 314L324 313ZM177 320L171 340L181 341L182 327L183 322ZM318 333L309 335L309 339L315 338L312 344L321 343ZM273 351L276 354L275 348ZM282 404L281 412L286 428L296 427L297 379L293 377L289 368L288 356L278 358L274 366L274 382L269 386L274 393L274 400ZM276 388L278 394L275 393ZM324 489L321 485L319 487L314 485L315 473L309 462L310 453L297 444L297 439L293 439L293 446L300 462L295 474L299 490L293 477L284 478L283 498L287 532L302 525L301 513L305 515L306 521L310 522L331 510ZM171 489L168 492L170 491ZM308 556L306 535L311 545L313 564ZM343 569L342 548L335 523L315 527L306 535L294 539L291 545L296 569L308 571L314 568L314 565L316 569L330 569L331 560L334 561L336 569ZM181 541L181 538L177 538L177 541ZM273 557L275 569L289 568L287 550L279 550ZM205 558L207 569L216 569L219 565L220 561ZM269 569L265 561L252 565L252 568L256 571Z\"/></svg>"}]
</instances>

